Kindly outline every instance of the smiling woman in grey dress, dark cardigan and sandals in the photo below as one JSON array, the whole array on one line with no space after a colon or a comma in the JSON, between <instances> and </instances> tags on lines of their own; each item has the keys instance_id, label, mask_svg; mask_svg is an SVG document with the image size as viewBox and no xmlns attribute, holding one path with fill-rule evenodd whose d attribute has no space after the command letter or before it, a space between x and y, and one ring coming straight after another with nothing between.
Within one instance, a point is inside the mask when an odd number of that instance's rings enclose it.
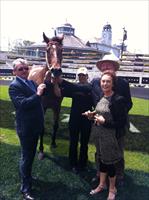
<instances>
[{"instance_id":1,"label":"smiling woman in grey dress, dark cardigan and sandals","mask_svg":"<svg viewBox=\"0 0 149 200\"><path fill-rule=\"evenodd\" d=\"M96 152L100 158L100 182L94 190L91 190L90 194L94 195L105 189L108 175L108 200L115 200L117 193L115 165L123 157L117 138L120 137L121 129L125 127L127 122L125 98L115 92L115 81L114 73L111 71L103 72L100 79L103 96L97 103L95 111L83 113L94 120L92 132L96 136Z\"/></svg>"}]
</instances>

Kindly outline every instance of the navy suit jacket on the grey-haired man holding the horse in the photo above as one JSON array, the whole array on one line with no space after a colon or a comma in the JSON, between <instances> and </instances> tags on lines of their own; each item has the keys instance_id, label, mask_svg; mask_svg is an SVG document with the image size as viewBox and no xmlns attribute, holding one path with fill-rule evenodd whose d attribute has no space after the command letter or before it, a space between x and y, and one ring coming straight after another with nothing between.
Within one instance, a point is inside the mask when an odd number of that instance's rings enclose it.
<instances>
[{"instance_id":1,"label":"navy suit jacket on the grey-haired man holding the horse","mask_svg":"<svg viewBox=\"0 0 149 200\"><path fill-rule=\"evenodd\" d=\"M16 110L17 133L20 136L40 133L44 127L41 97L18 77L10 84L9 95Z\"/></svg>"}]
</instances>

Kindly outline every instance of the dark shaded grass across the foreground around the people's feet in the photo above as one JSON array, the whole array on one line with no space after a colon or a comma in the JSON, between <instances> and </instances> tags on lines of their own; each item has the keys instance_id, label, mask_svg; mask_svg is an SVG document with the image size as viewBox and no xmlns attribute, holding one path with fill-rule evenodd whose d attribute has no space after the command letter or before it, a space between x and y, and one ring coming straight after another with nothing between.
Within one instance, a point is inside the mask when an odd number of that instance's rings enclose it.
<instances>
[{"instance_id":1,"label":"dark shaded grass across the foreground around the people's feet","mask_svg":"<svg viewBox=\"0 0 149 200\"><path fill-rule=\"evenodd\" d=\"M1 143L0 145L0 199L21 200L18 177L19 146ZM132 158L133 159L133 158ZM89 195L92 188L91 178L95 174L92 163L89 172L80 175L68 170L68 159L65 156L50 155L43 161L34 161L33 173L39 178L33 183L33 193L37 200L102 200L108 191ZM126 170L126 181L118 188L117 200L148 200L149 174L135 170Z\"/></svg>"}]
</instances>

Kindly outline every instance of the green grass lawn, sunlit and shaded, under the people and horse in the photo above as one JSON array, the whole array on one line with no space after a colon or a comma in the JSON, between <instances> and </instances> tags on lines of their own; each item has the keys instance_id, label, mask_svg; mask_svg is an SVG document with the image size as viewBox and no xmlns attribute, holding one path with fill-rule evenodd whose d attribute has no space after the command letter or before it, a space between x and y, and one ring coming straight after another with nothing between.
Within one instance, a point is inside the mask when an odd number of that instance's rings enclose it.
<instances>
[{"instance_id":1,"label":"green grass lawn, sunlit and shaded, under the people and horse","mask_svg":"<svg viewBox=\"0 0 149 200\"><path fill-rule=\"evenodd\" d=\"M8 96L8 87L0 89L0 200L21 200L18 162L20 146L14 130L14 109ZM116 200L149 199L149 101L133 98L130 111L132 128L126 135L125 185L118 188ZM39 180L33 184L37 200L104 200L108 192L94 197L89 195L95 175L94 144L89 144L89 172L75 175L68 162L68 116L71 100L64 98L57 134L56 149L50 148L52 113L46 113L44 147L46 158L33 165L33 175Z\"/></svg>"}]
</instances>

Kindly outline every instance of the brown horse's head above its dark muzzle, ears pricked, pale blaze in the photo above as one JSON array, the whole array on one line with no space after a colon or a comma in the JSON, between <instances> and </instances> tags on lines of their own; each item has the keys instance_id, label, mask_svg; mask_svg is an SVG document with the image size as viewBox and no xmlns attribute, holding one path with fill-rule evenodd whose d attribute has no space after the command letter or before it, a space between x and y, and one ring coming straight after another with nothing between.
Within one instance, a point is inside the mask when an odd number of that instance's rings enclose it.
<instances>
[{"instance_id":1,"label":"brown horse's head above its dark muzzle, ears pricked, pale blaze","mask_svg":"<svg viewBox=\"0 0 149 200\"><path fill-rule=\"evenodd\" d=\"M64 37L48 38L43 33L44 42L47 44L46 48L46 62L49 69L60 68L62 63L62 41Z\"/></svg>"}]
</instances>

